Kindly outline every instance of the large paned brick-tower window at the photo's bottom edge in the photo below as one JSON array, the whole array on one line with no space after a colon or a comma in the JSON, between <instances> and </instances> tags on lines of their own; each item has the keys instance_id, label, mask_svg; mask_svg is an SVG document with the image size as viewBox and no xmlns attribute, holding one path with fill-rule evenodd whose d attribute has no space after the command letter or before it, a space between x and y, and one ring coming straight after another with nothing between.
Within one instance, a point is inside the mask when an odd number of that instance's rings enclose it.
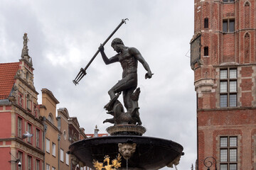
<instances>
[{"instance_id":1,"label":"large paned brick-tower window at the photo's bottom edge","mask_svg":"<svg viewBox=\"0 0 256 170\"><path fill-rule=\"evenodd\" d=\"M238 137L220 137L220 170L238 169Z\"/></svg>"}]
</instances>

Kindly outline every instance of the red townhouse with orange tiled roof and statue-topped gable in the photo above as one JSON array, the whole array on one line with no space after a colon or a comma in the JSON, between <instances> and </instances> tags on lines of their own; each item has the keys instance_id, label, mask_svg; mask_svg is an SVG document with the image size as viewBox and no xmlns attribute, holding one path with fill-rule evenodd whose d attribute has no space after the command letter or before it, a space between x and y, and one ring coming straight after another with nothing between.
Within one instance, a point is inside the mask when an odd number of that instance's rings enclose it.
<instances>
[{"instance_id":1,"label":"red townhouse with orange tiled roof and statue-topped gable","mask_svg":"<svg viewBox=\"0 0 256 170\"><path fill-rule=\"evenodd\" d=\"M43 122L27 42L25 33L19 62L0 64L1 169L43 169Z\"/></svg>"}]
</instances>

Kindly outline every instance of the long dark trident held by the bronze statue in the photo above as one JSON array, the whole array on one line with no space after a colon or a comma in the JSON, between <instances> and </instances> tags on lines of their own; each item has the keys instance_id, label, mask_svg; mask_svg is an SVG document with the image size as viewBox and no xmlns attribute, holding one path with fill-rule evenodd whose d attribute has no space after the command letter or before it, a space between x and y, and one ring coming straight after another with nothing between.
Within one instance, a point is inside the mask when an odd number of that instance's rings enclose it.
<instances>
[{"instance_id":1,"label":"long dark trident held by the bronze statue","mask_svg":"<svg viewBox=\"0 0 256 170\"><path fill-rule=\"evenodd\" d=\"M121 23L119 23L119 25L117 26L117 28L114 29L114 31L110 34L110 36L107 38L107 40L105 40L105 42L102 43L102 46L104 46L108 40L110 40L110 38L114 35L115 32L117 32L117 30L122 26L123 23L126 23L125 21L129 20L128 18L126 19L122 19ZM78 73L77 77L75 77L75 79L73 80L73 83L75 84L75 86L78 84L78 82L82 79L82 77L84 77L86 75L86 69L90 66L90 64L92 63L93 60L95 60L95 57L97 56L97 54L100 52L100 49L97 50L97 52L95 53L95 55L93 55L92 59L90 60L90 62L86 65L86 67L83 69L80 69L80 72Z\"/></svg>"}]
</instances>

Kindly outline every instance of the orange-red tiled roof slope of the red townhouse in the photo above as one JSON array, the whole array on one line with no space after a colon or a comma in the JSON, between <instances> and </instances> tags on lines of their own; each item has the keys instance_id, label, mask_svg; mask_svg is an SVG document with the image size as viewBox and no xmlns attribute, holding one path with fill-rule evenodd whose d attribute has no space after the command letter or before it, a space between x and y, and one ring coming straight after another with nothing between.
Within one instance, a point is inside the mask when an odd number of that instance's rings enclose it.
<instances>
[{"instance_id":1,"label":"orange-red tiled roof slope of the red townhouse","mask_svg":"<svg viewBox=\"0 0 256 170\"><path fill-rule=\"evenodd\" d=\"M11 93L18 67L19 62L0 63L0 100L8 98Z\"/></svg>"}]
</instances>

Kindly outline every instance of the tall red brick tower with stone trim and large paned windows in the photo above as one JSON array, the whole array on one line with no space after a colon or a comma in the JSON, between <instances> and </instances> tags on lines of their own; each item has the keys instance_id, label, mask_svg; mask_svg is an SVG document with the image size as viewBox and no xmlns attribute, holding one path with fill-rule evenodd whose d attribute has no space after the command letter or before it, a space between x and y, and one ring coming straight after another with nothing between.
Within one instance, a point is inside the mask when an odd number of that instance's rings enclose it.
<instances>
[{"instance_id":1,"label":"tall red brick tower with stone trim and large paned windows","mask_svg":"<svg viewBox=\"0 0 256 170\"><path fill-rule=\"evenodd\" d=\"M198 169L256 169L256 1L194 1Z\"/></svg>"}]
</instances>

